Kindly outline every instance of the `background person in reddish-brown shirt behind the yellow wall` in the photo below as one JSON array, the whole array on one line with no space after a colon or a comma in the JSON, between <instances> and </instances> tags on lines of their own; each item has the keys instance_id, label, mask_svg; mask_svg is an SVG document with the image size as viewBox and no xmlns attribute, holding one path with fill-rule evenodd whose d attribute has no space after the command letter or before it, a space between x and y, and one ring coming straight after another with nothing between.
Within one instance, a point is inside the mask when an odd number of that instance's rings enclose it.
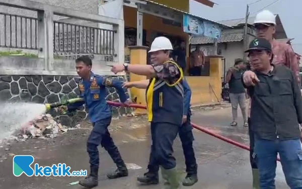
<instances>
[{"instance_id":1,"label":"background person in reddish-brown shirt behind the yellow wall","mask_svg":"<svg viewBox=\"0 0 302 189\"><path fill-rule=\"evenodd\" d=\"M200 76L205 64L205 56L201 47L196 47L190 56L190 76Z\"/></svg>"}]
</instances>

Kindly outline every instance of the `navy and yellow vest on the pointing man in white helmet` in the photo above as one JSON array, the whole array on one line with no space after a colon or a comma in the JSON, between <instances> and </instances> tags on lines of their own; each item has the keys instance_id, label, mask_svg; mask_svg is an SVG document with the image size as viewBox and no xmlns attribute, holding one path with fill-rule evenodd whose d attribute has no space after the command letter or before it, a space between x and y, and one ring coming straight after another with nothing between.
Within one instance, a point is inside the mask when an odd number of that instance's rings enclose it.
<instances>
[{"instance_id":1,"label":"navy and yellow vest on the pointing man in white helmet","mask_svg":"<svg viewBox=\"0 0 302 189\"><path fill-rule=\"evenodd\" d=\"M164 64L167 63L177 66L180 77L173 84L159 78L150 79L146 89L148 121L169 122L180 126L184 115L183 72L176 62L169 60Z\"/></svg>"}]
</instances>

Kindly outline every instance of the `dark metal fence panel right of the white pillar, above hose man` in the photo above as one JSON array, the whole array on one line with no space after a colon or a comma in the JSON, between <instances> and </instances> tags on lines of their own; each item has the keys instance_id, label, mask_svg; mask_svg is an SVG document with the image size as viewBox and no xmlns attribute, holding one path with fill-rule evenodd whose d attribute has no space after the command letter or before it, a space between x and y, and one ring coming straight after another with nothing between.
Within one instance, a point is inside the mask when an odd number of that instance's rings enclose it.
<instances>
[{"instance_id":1,"label":"dark metal fence panel right of the white pillar, above hose man","mask_svg":"<svg viewBox=\"0 0 302 189\"><path fill-rule=\"evenodd\" d=\"M63 22L54 22L54 54L78 55L99 54L114 55L114 32L95 27L81 26Z\"/></svg>"}]
</instances>

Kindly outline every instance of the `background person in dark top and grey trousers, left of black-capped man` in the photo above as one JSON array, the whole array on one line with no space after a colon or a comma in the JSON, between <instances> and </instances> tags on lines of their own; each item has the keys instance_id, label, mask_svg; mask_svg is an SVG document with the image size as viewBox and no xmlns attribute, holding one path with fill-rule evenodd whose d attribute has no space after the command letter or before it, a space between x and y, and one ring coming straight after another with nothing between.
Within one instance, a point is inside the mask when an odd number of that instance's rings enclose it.
<instances>
[{"instance_id":1,"label":"background person in dark top and grey trousers, left of black-capped man","mask_svg":"<svg viewBox=\"0 0 302 189\"><path fill-rule=\"evenodd\" d=\"M229 83L230 88L230 100L232 104L232 115L233 122L231 126L237 125L238 118L238 104L240 106L244 126L248 127L247 115L246 115L246 90L242 84L241 77L246 69L244 64L244 59L237 58L235 59L234 67L231 67L226 73L225 82Z\"/></svg>"}]
</instances>

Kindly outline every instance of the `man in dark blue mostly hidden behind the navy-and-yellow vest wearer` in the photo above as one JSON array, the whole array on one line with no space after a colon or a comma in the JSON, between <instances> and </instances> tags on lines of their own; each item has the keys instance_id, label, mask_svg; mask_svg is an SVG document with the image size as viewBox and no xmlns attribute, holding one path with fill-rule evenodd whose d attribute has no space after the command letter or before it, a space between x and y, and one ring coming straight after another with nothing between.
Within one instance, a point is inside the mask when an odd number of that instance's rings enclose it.
<instances>
[{"instance_id":1,"label":"man in dark blue mostly hidden behind the navy-and-yellow vest wearer","mask_svg":"<svg viewBox=\"0 0 302 189\"><path fill-rule=\"evenodd\" d=\"M142 80L138 82L128 82L123 85L126 88L140 88L146 89L148 86L148 80ZM189 84L183 80L184 86L184 115L183 115L183 124L179 130L179 137L182 143L182 148L185 156L186 163L186 172L187 176L183 180L184 186L192 186L198 181L197 177L197 164L195 153L193 149L193 127L191 125L191 109L190 109L190 100L191 100L191 89ZM149 163L148 163L148 172L144 173L143 176L137 177L137 181L144 184L158 184L159 183L159 165L156 162L154 155L154 148L151 147Z\"/></svg>"}]
</instances>

